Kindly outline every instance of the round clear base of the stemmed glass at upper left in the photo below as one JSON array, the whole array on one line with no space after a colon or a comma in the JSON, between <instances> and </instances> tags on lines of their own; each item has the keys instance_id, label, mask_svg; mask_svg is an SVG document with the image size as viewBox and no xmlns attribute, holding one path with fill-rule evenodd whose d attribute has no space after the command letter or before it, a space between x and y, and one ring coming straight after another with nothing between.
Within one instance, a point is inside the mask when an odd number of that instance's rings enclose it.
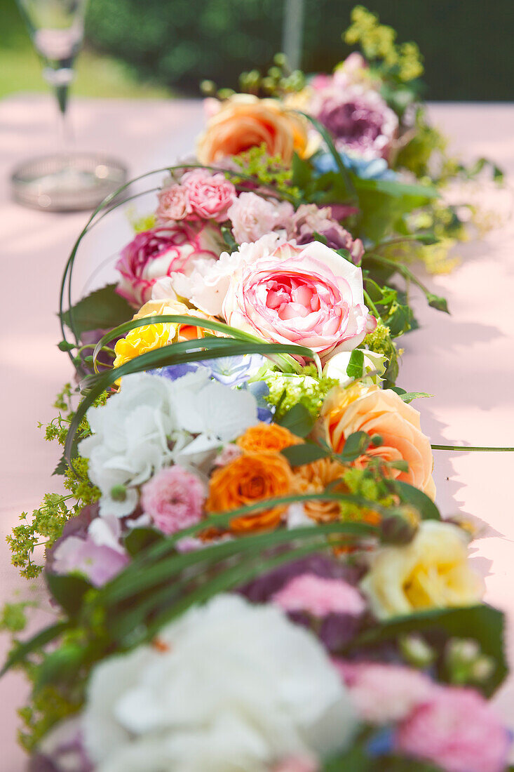
<instances>
[{"instance_id":1,"label":"round clear base of the stemmed glass at upper left","mask_svg":"<svg viewBox=\"0 0 514 772\"><path fill-rule=\"evenodd\" d=\"M127 180L127 168L100 154L48 155L24 161L11 176L12 196L48 212L93 209Z\"/></svg>"}]
</instances>

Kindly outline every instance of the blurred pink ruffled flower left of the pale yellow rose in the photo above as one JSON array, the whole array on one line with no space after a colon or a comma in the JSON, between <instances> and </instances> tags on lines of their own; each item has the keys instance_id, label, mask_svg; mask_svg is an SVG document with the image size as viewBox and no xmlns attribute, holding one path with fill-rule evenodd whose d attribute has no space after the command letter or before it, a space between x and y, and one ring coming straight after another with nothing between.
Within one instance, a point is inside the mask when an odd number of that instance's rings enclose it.
<instances>
[{"instance_id":1,"label":"blurred pink ruffled flower left of the pale yellow rose","mask_svg":"<svg viewBox=\"0 0 514 772\"><path fill-rule=\"evenodd\" d=\"M329 614L358 616L366 610L364 598L342 579L299 574L272 596L284 611L306 611L323 619Z\"/></svg>"}]
</instances>

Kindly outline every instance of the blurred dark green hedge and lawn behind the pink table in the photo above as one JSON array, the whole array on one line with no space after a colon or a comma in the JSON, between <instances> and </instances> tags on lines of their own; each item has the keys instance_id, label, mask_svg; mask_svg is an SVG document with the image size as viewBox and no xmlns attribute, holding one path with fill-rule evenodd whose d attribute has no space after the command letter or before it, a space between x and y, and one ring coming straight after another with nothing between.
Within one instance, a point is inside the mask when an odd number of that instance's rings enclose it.
<instances>
[{"instance_id":1,"label":"blurred dark green hedge and lawn behind the pink table","mask_svg":"<svg viewBox=\"0 0 514 772\"><path fill-rule=\"evenodd\" d=\"M340 33L356 2L305 0L303 69L330 70L350 49ZM514 0L374 0L380 21L424 55L429 100L512 100ZM90 0L76 93L99 97L198 94L236 86L282 47L284 0ZM45 90L15 0L0 0L0 97Z\"/></svg>"}]
</instances>

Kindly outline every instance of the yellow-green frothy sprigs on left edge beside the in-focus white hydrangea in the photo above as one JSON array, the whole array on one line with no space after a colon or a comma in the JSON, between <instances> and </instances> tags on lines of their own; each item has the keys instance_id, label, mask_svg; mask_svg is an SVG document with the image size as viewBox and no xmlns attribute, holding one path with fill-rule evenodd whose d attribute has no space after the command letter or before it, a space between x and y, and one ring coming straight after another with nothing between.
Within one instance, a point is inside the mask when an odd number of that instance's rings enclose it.
<instances>
[{"instance_id":1,"label":"yellow-green frothy sprigs on left edge beside the in-focus white hydrangea","mask_svg":"<svg viewBox=\"0 0 514 772\"><path fill-rule=\"evenodd\" d=\"M96 404L103 404L107 394ZM61 447L65 445L69 425L73 420L74 411L71 405L72 389L66 384L58 394L55 407L59 415L45 427L45 439L55 441ZM90 435L90 428L83 418L79 424L78 436L84 438ZM59 473L63 473L63 485L69 493L46 493L42 504L33 510L32 516L23 512L20 515L20 525L12 529L7 538L12 552L12 564L19 567L20 573L27 579L39 576L42 566L34 562L37 547L51 547L63 533L63 527L69 517L77 515L83 506L92 504L100 498L100 491L93 486L87 476L87 459L76 459L74 467L59 462Z\"/></svg>"}]
</instances>

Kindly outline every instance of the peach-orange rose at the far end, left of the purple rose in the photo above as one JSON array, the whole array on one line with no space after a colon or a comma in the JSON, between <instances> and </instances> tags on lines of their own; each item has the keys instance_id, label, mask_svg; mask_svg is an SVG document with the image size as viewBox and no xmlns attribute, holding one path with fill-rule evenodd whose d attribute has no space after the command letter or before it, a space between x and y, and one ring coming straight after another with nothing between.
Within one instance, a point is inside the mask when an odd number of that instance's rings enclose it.
<instances>
[{"instance_id":1,"label":"peach-orange rose at the far end, left of the purple rose","mask_svg":"<svg viewBox=\"0 0 514 772\"><path fill-rule=\"evenodd\" d=\"M278 100L235 94L208 119L205 132L198 139L198 160L215 164L262 144L269 155L279 155L285 164L291 163L294 152L300 157L311 152L302 117Z\"/></svg>"}]
</instances>

